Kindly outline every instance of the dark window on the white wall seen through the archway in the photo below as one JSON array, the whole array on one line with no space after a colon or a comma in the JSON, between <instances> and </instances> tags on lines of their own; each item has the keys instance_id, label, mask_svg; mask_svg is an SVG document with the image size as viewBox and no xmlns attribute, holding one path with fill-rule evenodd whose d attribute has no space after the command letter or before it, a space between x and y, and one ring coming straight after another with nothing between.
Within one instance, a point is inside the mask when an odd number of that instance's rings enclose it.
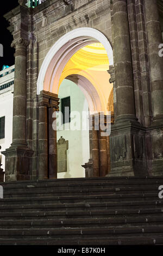
<instances>
[{"instance_id":1,"label":"dark window on the white wall seen through the archway","mask_svg":"<svg viewBox=\"0 0 163 256\"><path fill-rule=\"evenodd\" d=\"M70 96L61 99L61 112L63 114L63 124L70 123L70 113L71 113L71 102Z\"/></svg>"}]
</instances>

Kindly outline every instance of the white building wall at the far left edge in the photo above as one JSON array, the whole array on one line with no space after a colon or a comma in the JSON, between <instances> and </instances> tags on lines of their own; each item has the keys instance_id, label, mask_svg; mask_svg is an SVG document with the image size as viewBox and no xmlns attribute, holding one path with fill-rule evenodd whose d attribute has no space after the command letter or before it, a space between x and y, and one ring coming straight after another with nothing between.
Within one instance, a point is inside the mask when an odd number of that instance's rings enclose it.
<instances>
[{"instance_id":1,"label":"white building wall at the far left edge","mask_svg":"<svg viewBox=\"0 0 163 256\"><path fill-rule=\"evenodd\" d=\"M0 72L0 75L4 76L0 78L0 86L14 80L14 72L5 75L7 71L10 72L11 69L14 69L14 66L11 66L8 69L5 69ZM0 118L5 117L5 138L0 139L0 145L2 147L1 151L9 148L12 143L12 114L13 114L13 94L14 85L0 90ZM5 170L5 157L2 155L2 167Z\"/></svg>"}]
</instances>

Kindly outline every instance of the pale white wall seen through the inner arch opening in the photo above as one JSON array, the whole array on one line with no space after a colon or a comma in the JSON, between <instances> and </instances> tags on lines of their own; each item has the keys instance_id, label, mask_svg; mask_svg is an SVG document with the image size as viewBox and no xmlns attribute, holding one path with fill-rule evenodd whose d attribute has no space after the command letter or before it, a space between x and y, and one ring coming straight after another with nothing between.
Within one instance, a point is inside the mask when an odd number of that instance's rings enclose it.
<instances>
[{"instance_id":1,"label":"pale white wall seen through the inner arch opening","mask_svg":"<svg viewBox=\"0 0 163 256\"><path fill-rule=\"evenodd\" d=\"M71 112L78 111L80 113L82 124L82 111L89 110L85 96L75 83L64 80L59 89L59 98L62 99L68 96L71 97ZM85 177L85 169L82 164L88 162L90 158L89 127L86 131L57 131L57 140L61 136L66 141L68 140L69 148L67 150L67 172L58 173L58 178Z\"/></svg>"}]
</instances>

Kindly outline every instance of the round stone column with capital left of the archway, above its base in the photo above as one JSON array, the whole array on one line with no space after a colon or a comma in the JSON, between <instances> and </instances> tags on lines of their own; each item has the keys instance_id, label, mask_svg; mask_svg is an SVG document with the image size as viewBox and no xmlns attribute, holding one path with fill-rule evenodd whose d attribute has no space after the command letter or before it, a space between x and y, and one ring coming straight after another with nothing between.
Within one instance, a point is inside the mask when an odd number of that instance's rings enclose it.
<instances>
[{"instance_id":1,"label":"round stone column with capital left of the archway, above its base","mask_svg":"<svg viewBox=\"0 0 163 256\"><path fill-rule=\"evenodd\" d=\"M15 47L15 78L13 103L13 128L11 146L25 146L26 142L26 98L27 98L27 45L28 41L19 39L12 42Z\"/></svg>"}]
</instances>

